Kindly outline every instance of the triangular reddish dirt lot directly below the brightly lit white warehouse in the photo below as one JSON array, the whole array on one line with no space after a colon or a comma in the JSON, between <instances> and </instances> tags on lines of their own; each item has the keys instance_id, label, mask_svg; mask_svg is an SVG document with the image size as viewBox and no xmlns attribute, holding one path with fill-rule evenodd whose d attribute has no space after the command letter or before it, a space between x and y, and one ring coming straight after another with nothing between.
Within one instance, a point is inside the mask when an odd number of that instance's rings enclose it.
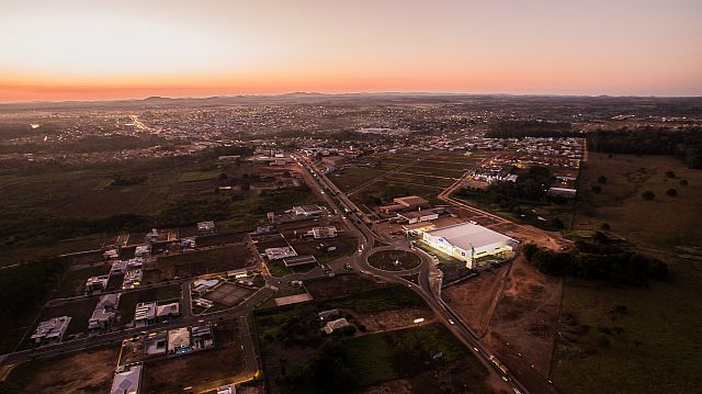
<instances>
[{"instance_id":1,"label":"triangular reddish dirt lot directly below the brightly lit white warehouse","mask_svg":"<svg viewBox=\"0 0 702 394\"><path fill-rule=\"evenodd\" d=\"M443 290L444 301L479 336L487 331L509 269L509 266L502 266L484 271L476 278Z\"/></svg>"}]
</instances>

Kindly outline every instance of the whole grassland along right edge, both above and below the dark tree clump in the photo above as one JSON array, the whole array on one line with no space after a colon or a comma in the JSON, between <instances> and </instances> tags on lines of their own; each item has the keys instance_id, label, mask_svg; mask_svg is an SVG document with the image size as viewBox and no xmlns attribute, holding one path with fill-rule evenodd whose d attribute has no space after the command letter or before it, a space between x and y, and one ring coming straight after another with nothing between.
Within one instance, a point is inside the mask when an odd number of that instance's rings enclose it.
<instances>
[{"instance_id":1,"label":"whole grassland along right edge, both above and below the dark tree clump","mask_svg":"<svg viewBox=\"0 0 702 394\"><path fill-rule=\"evenodd\" d=\"M676 177L666 177L667 171ZM667 262L670 278L647 289L567 280L559 331L574 333L558 344L554 383L567 393L699 392L702 264L677 258L671 247L701 245L702 171L671 157L591 154L582 176L587 204L576 228L600 229L608 223L608 234ZM688 185L680 184L682 179ZM592 185L601 192L592 192ZM679 195L667 196L670 188ZM641 198L645 190L656 194L653 201ZM574 319L564 322L564 316Z\"/></svg>"}]
</instances>

